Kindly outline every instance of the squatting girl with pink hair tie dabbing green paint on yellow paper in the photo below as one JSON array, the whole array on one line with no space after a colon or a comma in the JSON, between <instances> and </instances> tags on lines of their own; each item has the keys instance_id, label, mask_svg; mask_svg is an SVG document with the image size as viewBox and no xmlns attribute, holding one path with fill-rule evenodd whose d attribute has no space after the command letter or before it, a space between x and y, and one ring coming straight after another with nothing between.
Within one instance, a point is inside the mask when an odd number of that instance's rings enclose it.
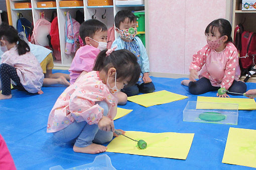
<instances>
[{"instance_id":1,"label":"squatting girl with pink hair tie dabbing green paint on yellow paper","mask_svg":"<svg viewBox=\"0 0 256 170\"><path fill-rule=\"evenodd\" d=\"M50 112L47 132L53 132L59 141L76 139L76 152L106 151L100 144L113 137L117 92L125 84L136 83L139 76L140 65L132 52L102 50L93 71L81 74L59 96Z\"/></svg>"}]
</instances>

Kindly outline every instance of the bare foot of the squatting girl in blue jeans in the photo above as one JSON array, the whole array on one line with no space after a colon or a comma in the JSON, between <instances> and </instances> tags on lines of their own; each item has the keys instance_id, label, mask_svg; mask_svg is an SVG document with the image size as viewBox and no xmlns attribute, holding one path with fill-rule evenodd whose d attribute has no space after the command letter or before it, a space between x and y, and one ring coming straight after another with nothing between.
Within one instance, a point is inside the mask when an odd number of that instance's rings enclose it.
<instances>
[{"instance_id":1,"label":"bare foot of the squatting girl in blue jeans","mask_svg":"<svg viewBox=\"0 0 256 170\"><path fill-rule=\"evenodd\" d=\"M73 150L75 152L91 153L91 154L104 152L104 151L106 151L106 149L107 149L106 146L103 146L100 144L95 144L95 143L91 143L90 145L88 145L86 147L77 147L75 145L73 147Z\"/></svg>"}]
</instances>

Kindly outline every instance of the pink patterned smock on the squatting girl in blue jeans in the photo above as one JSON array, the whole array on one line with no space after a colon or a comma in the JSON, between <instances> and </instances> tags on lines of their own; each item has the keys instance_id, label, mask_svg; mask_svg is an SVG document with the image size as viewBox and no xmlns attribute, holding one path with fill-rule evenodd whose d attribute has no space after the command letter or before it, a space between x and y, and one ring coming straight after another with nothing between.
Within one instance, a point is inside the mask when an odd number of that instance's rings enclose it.
<instances>
[{"instance_id":1,"label":"pink patterned smock on the squatting girl in blue jeans","mask_svg":"<svg viewBox=\"0 0 256 170\"><path fill-rule=\"evenodd\" d=\"M74 121L97 124L103 116L103 108L96 101L104 100L109 108L107 116L116 115L117 97L99 78L98 71L81 74L59 96L48 117L47 132L56 132Z\"/></svg>"}]
</instances>

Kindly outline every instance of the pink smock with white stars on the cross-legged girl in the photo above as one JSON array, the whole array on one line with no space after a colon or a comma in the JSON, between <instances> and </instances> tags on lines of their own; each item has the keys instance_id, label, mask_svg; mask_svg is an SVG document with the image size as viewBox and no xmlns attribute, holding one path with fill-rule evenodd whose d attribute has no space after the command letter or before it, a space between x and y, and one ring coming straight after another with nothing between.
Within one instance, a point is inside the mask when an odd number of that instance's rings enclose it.
<instances>
[{"instance_id":1,"label":"pink smock with white stars on the cross-legged girl","mask_svg":"<svg viewBox=\"0 0 256 170\"><path fill-rule=\"evenodd\" d=\"M205 45L193 55L193 61L189 67L189 70L191 69L201 70L199 78L208 78L212 86L226 89L232 85L234 79L238 80L241 73L238 52L232 42L228 42L220 52Z\"/></svg>"}]
</instances>

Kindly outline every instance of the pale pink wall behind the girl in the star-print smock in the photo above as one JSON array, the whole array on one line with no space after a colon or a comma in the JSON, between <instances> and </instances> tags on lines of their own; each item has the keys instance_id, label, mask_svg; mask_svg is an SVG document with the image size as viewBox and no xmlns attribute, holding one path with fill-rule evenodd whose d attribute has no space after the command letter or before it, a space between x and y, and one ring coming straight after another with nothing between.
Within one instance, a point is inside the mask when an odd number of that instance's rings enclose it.
<instances>
[{"instance_id":1,"label":"pale pink wall behind the girl in the star-print smock","mask_svg":"<svg viewBox=\"0 0 256 170\"><path fill-rule=\"evenodd\" d=\"M149 0L151 72L189 74L192 55L206 44L206 26L217 18L229 19L227 4L227 0Z\"/></svg>"}]
</instances>

